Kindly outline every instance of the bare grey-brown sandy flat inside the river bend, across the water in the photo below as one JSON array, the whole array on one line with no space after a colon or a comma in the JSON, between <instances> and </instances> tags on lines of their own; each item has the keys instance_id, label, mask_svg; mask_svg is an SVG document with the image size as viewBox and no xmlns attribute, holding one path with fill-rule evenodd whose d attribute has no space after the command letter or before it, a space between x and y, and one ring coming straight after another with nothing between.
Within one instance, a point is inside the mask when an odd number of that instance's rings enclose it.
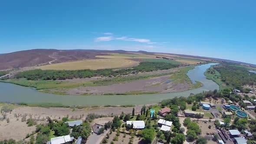
<instances>
[{"instance_id":1,"label":"bare grey-brown sandy flat inside the river bend, across the water","mask_svg":"<svg viewBox=\"0 0 256 144\"><path fill-rule=\"evenodd\" d=\"M175 84L174 82L164 83L171 75L160 76L152 79L143 79L134 82L126 82L121 84L112 84L105 86L87 86L73 88L67 91L70 95L75 94L104 94L104 93L125 93L132 91L140 92L179 92L189 89L188 84Z\"/></svg>"}]
</instances>

